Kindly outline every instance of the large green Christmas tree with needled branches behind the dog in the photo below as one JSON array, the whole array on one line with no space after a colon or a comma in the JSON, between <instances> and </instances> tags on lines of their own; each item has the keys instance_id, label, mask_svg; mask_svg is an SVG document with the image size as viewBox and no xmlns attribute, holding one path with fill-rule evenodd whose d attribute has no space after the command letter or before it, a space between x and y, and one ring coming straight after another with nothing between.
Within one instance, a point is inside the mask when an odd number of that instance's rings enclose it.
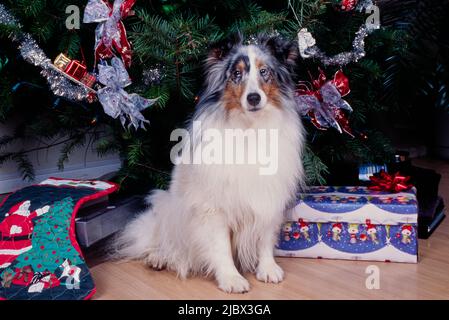
<instances>
[{"instance_id":1,"label":"large green Christmas tree with needled branches behind the dog","mask_svg":"<svg viewBox=\"0 0 449 320\"><path fill-rule=\"evenodd\" d=\"M23 177L32 179L28 155L34 149L10 152L11 143L53 139L57 142L41 148L63 145L58 159L63 168L73 150L89 148L97 141L100 155L120 154L122 168L117 181L123 186L164 186L172 166L170 132L183 127L195 108L203 81L202 61L211 43L237 31L245 39L266 33L297 41L298 31L307 28L319 48L332 56L351 49L367 18L365 10L356 8L366 2L137 1L134 14L123 19L133 49L128 69L133 84L127 90L159 98L143 111L150 121L145 131L123 128L118 119L104 114L98 102L55 96L39 69L24 62L11 41L11 35L25 31L48 57L53 59L61 52L72 59L85 57L92 68L96 24L66 27L67 7L74 5L82 14L87 0L2 0L20 26L0 25L0 121L19 114L20 123L13 135L0 136L0 165L15 161ZM447 24L447 2L379 0L374 4L380 10L381 28L364 39L363 57L344 66L328 65L318 58L297 62L298 83L316 79L319 68L330 80L342 67L351 89L345 97L353 109L346 114L351 135L332 128L318 130L310 118L304 119L308 132L304 164L310 184L325 183L327 168L338 162L382 163L390 159L394 149L379 130L382 119L403 117L415 110L417 103L447 106L448 59L443 53L447 54L449 45L440 31ZM432 49L434 59L418 50L423 47L420 43ZM427 67L422 69L417 62L425 62ZM60 137L64 138L56 139Z\"/></svg>"}]
</instances>

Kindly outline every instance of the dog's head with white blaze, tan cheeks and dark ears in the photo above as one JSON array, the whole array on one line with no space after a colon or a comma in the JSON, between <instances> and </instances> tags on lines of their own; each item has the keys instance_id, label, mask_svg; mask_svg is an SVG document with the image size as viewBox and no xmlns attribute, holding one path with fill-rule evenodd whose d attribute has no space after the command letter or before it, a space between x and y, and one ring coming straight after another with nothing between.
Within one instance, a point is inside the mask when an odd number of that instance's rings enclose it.
<instances>
[{"instance_id":1,"label":"dog's head with white blaze, tan cheeks and dark ears","mask_svg":"<svg viewBox=\"0 0 449 320\"><path fill-rule=\"evenodd\" d=\"M208 85L218 88L228 111L281 108L282 95L292 88L287 67L296 57L295 45L278 38L261 38L258 45L242 45L241 39L227 42L209 54Z\"/></svg>"}]
</instances>

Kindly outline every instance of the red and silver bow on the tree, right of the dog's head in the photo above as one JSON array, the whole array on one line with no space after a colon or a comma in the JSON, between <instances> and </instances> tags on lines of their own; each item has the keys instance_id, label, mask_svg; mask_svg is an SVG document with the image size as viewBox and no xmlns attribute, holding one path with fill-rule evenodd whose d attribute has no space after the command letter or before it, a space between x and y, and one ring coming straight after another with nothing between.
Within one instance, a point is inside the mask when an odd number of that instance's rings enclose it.
<instances>
[{"instance_id":1,"label":"red and silver bow on the tree, right of the dog's head","mask_svg":"<svg viewBox=\"0 0 449 320\"><path fill-rule=\"evenodd\" d=\"M327 81L326 75L320 69L320 74L317 79L312 80L311 87L301 82L296 91L299 112L308 116L317 129L334 127L340 133L344 131L354 137L349 120L342 111L344 109L352 112L349 103L342 99L350 91L349 80L342 70L337 71L334 78Z\"/></svg>"}]
</instances>

